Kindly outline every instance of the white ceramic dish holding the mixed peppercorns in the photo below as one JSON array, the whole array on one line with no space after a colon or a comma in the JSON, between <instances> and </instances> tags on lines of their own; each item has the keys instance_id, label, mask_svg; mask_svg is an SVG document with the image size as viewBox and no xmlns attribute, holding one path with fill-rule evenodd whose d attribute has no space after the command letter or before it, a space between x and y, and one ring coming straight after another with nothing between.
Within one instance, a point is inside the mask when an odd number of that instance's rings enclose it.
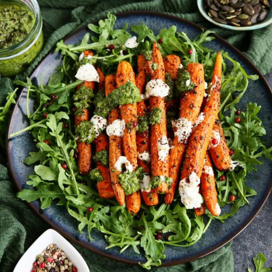
<instances>
[{"instance_id":1,"label":"white ceramic dish holding the mixed peppercorns","mask_svg":"<svg viewBox=\"0 0 272 272\"><path fill-rule=\"evenodd\" d=\"M13 272L31 272L33 262L49 244L56 244L62 249L69 261L77 268L78 272L90 272L85 260L79 252L58 232L49 228L47 229L25 252L21 257Z\"/></svg>"}]
</instances>

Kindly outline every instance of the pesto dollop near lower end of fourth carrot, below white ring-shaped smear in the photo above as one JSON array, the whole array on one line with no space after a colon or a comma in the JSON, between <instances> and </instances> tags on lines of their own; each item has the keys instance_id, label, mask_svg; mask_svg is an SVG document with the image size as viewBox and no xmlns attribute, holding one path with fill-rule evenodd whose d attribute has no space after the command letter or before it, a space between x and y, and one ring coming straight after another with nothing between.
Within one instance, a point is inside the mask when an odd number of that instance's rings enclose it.
<instances>
[{"instance_id":1,"label":"pesto dollop near lower end of fourth carrot, below white ring-shaped smear","mask_svg":"<svg viewBox=\"0 0 272 272\"><path fill-rule=\"evenodd\" d=\"M132 194L140 189L139 180L143 178L142 167L137 168L134 172L123 172L118 175L119 182L126 195Z\"/></svg>"}]
</instances>

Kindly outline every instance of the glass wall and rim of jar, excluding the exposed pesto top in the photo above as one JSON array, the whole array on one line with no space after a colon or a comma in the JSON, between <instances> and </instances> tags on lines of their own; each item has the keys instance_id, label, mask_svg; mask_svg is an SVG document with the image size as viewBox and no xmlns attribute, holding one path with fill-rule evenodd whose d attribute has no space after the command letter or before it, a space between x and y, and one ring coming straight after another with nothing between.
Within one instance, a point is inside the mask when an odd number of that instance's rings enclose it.
<instances>
[{"instance_id":1,"label":"glass wall and rim of jar, excluding the exposed pesto top","mask_svg":"<svg viewBox=\"0 0 272 272\"><path fill-rule=\"evenodd\" d=\"M35 17L35 23L26 38L15 45L0 48L0 76L13 76L22 73L43 47L42 16L37 0L0 0L0 3L26 5Z\"/></svg>"}]
</instances>

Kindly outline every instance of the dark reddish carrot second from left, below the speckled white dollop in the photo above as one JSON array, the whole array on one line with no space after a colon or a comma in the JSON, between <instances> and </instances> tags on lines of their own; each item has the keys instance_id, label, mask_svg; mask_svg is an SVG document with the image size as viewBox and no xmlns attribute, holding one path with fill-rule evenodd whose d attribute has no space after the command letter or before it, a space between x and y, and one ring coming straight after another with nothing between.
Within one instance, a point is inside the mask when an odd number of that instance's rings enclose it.
<instances>
[{"instance_id":1,"label":"dark reddish carrot second from left, below the speckled white dollop","mask_svg":"<svg viewBox=\"0 0 272 272\"><path fill-rule=\"evenodd\" d=\"M108 136L105 133L100 134L95 139L95 151L109 150ZM109 168L103 165L101 162L96 162L96 167L101 173L103 180L97 182L96 188L101 198L113 198L115 196L111 186Z\"/></svg>"}]
</instances>

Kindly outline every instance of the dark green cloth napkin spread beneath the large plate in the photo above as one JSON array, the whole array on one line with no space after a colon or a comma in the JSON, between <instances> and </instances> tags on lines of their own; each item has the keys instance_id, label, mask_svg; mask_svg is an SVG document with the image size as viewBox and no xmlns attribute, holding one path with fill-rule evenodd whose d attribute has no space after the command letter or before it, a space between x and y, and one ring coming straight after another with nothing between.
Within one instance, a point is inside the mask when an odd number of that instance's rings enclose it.
<instances>
[{"instance_id":1,"label":"dark green cloth napkin spread beneath the large plate","mask_svg":"<svg viewBox=\"0 0 272 272\"><path fill-rule=\"evenodd\" d=\"M29 69L18 78L24 79L38 62L51 50L56 42L82 25L105 17L108 10L123 12L133 10L160 11L177 15L216 31L252 60L264 73L272 71L272 25L254 32L233 32L214 28L198 12L196 0L39 0L41 6L45 46ZM10 80L0 80L0 106L10 91ZM0 153L0 161L4 151ZM49 226L29 206L17 199L7 168L0 165L0 272L12 271L25 250ZM201 241L200 241L201 242ZM91 272L109 272L114 268L120 272L144 271L139 266L129 266L91 253L74 244L87 261ZM186 250L186 249L182 249ZM154 268L152 271L184 272L233 272L233 255L230 243L216 252L196 261L168 268Z\"/></svg>"}]
</instances>

